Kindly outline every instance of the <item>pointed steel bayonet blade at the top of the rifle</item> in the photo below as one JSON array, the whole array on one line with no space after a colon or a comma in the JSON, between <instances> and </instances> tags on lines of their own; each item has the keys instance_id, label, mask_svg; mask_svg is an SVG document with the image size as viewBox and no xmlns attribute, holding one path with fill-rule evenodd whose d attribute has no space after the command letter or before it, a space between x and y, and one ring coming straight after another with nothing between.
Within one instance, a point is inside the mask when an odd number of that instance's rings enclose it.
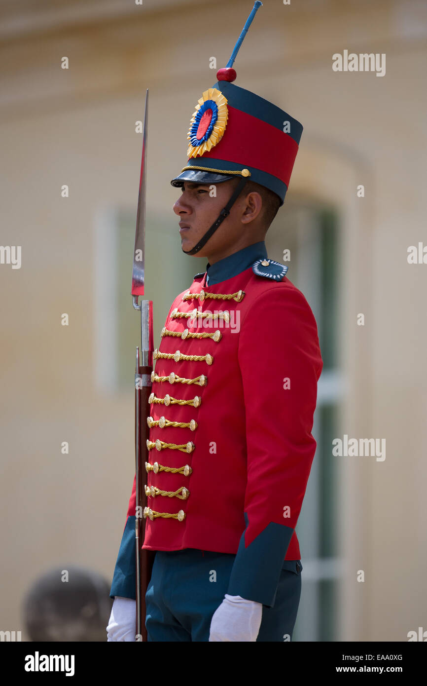
<instances>
[{"instance_id":1,"label":"pointed steel bayonet blade at the top of the rifle","mask_svg":"<svg viewBox=\"0 0 427 686\"><path fill-rule=\"evenodd\" d=\"M145 95L145 114L143 128L143 152L141 155L141 174L139 177L138 210L136 212L136 232L134 247L134 267L132 270L132 296L134 302L144 295L145 279L145 196L147 190L147 126L148 126L148 88Z\"/></svg>"}]
</instances>

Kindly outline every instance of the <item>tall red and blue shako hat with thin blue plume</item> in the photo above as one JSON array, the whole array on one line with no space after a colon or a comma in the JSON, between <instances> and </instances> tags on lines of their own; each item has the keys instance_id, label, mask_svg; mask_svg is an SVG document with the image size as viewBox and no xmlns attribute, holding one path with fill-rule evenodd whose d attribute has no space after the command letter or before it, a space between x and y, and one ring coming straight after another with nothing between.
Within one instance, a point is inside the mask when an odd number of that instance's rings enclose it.
<instances>
[{"instance_id":1,"label":"tall red and blue shako hat with thin blue plume","mask_svg":"<svg viewBox=\"0 0 427 686\"><path fill-rule=\"evenodd\" d=\"M247 176L280 198L289 187L297 156L302 124L263 97L235 86L232 68L236 54L255 13L256 2L225 69L217 71L217 83L202 93L188 131L188 163L171 180L216 184Z\"/></svg>"}]
</instances>

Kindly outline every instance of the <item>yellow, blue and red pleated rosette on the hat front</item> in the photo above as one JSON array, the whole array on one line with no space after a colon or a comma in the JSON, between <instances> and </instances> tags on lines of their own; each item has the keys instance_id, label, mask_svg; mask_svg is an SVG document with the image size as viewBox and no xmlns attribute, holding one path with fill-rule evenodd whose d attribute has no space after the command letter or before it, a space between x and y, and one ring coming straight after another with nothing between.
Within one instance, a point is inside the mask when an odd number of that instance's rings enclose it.
<instances>
[{"instance_id":1,"label":"yellow, blue and red pleated rosette on the hat front","mask_svg":"<svg viewBox=\"0 0 427 686\"><path fill-rule=\"evenodd\" d=\"M227 98L217 88L208 88L197 102L187 138L188 158L203 155L217 145L227 126Z\"/></svg>"}]
</instances>

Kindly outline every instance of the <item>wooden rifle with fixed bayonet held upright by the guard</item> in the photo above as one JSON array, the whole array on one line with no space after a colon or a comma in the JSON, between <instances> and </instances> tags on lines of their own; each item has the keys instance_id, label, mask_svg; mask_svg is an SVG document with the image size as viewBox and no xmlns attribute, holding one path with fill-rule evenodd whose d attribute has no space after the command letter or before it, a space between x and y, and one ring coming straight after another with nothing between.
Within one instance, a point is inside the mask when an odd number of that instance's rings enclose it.
<instances>
[{"instance_id":1,"label":"wooden rifle with fixed bayonet held upright by the guard","mask_svg":"<svg viewBox=\"0 0 427 686\"><path fill-rule=\"evenodd\" d=\"M145 197L147 189L147 126L148 126L148 88L145 95L145 115L143 128L143 152L141 155L141 174L139 178L138 210L136 213L136 232L134 264L132 268L132 304L141 313L141 355L136 347L135 365L135 558L136 558L136 641L147 641L145 628L145 593L151 578L151 568L155 552L143 550L145 537L145 518L147 495L143 488L143 469L148 462L149 394L151 392L151 372L153 370L153 303L141 300L144 295L145 281Z\"/></svg>"}]
</instances>

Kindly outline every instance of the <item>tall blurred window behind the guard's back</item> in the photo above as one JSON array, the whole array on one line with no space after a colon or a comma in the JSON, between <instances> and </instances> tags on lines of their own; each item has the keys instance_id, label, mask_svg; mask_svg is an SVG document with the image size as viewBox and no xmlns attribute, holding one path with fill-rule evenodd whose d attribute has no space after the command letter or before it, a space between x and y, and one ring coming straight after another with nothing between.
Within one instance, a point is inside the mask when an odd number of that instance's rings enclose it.
<instances>
[{"instance_id":1,"label":"tall blurred window behind the guard's back","mask_svg":"<svg viewBox=\"0 0 427 686\"><path fill-rule=\"evenodd\" d=\"M338 224L337 214L326 206L304 198L286 199L266 237L269 257L289 266L286 276L313 310L324 360L313 425L317 449L296 528L303 570L293 641L339 640L341 560L337 549L337 463L332 460L332 438L337 436L337 413L343 398L337 362ZM286 249L290 250L289 261L284 259Z\"/></svg>"}]
</instances>

